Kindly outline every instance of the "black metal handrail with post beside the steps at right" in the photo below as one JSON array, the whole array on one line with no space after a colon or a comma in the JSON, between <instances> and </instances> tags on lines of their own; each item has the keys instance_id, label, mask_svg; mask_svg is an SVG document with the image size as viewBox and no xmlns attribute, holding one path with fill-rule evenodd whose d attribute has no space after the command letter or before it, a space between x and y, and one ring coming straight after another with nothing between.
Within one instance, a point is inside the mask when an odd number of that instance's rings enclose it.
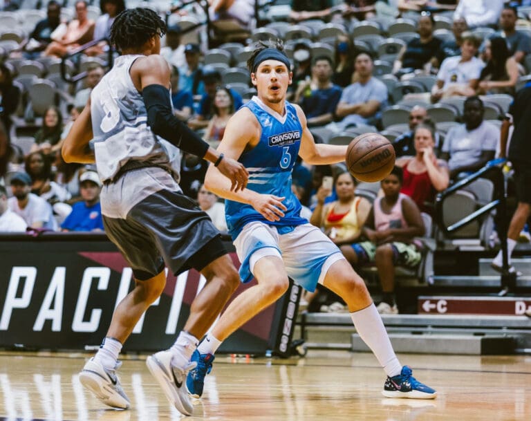
<instances>
[{"instance_id":1,"label":"black metal handrail with post beside the steps at right","mask_svg":"<svg viewBox=\"0 0 531 421\"><path fill-rule=\"evenodd\" d=\"M505 158L498 158L487 162L485 167L479 169L474 174L470 174L466 178L459 180L451 187L448 187L445 191L441 191L436 198L436 222L439 229L444 234L451 234L456 232L461 227L476 221L484 214L496 209L496 231L500 239L500 245L503 256L502 274L501 274L501 292L500 295L505 295L507 292L511 292L516 288L516 273L509 272L509 255L507 253L507 227L509 221L507 218L507 204L506 204L506 192L505 192L505 178L503 176L503 165L507 162ZM463 189L463 187L471 184L478 178L489 178L494 183L494 199L483 205L472 214L465 216L465 218L453 223L449 227L445 225L443 216L443 203L445 198L454 194L456 191Z\"/></svg>"}]
</instances>

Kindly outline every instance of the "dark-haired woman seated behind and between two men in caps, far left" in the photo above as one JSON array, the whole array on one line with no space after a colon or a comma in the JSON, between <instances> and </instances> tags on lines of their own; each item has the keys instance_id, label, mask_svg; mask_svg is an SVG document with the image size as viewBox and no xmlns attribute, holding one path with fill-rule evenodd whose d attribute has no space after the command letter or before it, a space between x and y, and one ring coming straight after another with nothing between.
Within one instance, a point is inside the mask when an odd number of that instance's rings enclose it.
<instances>
[{"instance_id":1,"label":"dark-haired woman seated behind and between two men in caps, far left","mask_svg":"<svg viewBox=\"0 0 531 421\"><path fill-rule=\"evenodd\" d=\"M71 194L64 187L52 180L52 162L50 157L41 151L26 156L25 169L31 178L32 194L40 196L50 205L64 203L71 198Z\"/></svg>"}]
</instances>

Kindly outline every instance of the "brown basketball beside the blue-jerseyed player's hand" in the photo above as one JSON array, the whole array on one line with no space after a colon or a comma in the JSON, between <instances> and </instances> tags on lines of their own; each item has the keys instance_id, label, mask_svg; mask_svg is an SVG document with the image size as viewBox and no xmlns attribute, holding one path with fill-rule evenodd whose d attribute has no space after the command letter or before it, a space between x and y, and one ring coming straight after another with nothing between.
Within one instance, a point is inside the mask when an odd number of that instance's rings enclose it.
<instances>
[{"instance_id":1,"label":"brown basketball beside the blue-jerseyed player's hand","mask_svg":"<svg viewBox=\"0 0 531 421\"><path fill-rule=\"evenodd\" d=\"M383 180L395 166L395 149L379 133L363 133L346 149L346 167L360 181Z\"/></svg>"}]
</instances>

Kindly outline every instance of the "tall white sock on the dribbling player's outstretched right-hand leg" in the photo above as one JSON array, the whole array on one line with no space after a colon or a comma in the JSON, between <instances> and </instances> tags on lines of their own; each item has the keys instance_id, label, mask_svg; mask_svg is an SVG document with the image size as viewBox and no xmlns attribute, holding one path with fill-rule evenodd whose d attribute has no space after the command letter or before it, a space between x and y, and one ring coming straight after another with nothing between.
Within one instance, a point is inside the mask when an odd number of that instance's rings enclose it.
<instances>
[{"instance_id":1,"label":"tall white sock on the dribbling player's outstretched right-hand leg","mask_svg":"<svg viewBox=\"0 0 531 421\"><path fill-rule=\"evenodd\" d=\"M371 348L373 354L384 368L386 375L393 377L402 371L402 364L395 355L382 317L372 303L369 307L351 313L352 321L363 342Z\"/></svg>"}]
</instances>

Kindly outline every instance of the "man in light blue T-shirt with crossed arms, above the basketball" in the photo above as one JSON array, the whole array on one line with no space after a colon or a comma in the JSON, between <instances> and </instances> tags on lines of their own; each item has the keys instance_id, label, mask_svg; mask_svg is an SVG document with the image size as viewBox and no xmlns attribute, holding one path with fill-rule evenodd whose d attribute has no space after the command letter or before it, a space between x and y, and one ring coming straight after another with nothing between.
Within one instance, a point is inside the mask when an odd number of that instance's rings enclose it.
<instances>
[{"instance_id":1,"label":"man in light blue T-shirt with crossed arms, above the basketball","mask_svg":"<svg viewBox=\"0 0 531 421\"><path fill-rule=\"evenodd\" d=\"M358 54L354 68L357 82L344 88L335 110L335 115L342 118L335 124L340 131L357 124L375 124L387 102L385 84L373 77L372 57L368 53Z\"/></svg>"}]
</instances>

